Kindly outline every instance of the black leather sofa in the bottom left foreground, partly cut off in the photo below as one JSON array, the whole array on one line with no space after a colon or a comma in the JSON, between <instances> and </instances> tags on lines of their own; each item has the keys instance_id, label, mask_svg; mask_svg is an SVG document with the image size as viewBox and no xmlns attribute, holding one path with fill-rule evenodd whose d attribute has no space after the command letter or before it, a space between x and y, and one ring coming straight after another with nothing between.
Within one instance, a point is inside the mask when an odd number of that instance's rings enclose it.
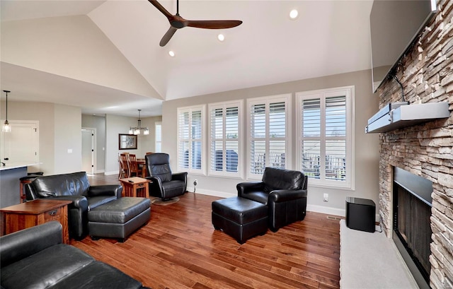
<instances>
[{"instance_id":1,"label":"black leather sofa in the bottom left foreground, partly cut off","mask_svg":"<svg viewBox=\"0 0 453 289\"><path fill-rule=\"evenodd\" d=\"M142 283L90 255L62 244L57 221L0 237L4 289L136 289Z\"/></svg>"}]
</instances>

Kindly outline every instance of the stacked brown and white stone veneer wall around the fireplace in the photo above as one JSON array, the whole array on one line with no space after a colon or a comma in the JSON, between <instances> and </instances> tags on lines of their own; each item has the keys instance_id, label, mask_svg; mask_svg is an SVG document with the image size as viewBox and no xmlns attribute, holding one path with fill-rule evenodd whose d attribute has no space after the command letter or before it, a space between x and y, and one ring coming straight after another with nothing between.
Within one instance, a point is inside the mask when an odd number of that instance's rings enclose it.
<instances>
[{"instance_id":1,"label":"stacked brown and white stone veneer wall around the fireplace","mask_svg":"<svg viewBox=\"0 0 453 289\"><path fill-rule=\"evenodd\" d=\"M392 230L392 167L430 179L432 240L430 285L453 288L453 1L437 0L435 15L398 64L406 100L449 102L450 117L380 134L379 215L388 237ZM389 44L391 45L391 44ZM387 79L379 105L401 101L401 88Z\"/></svg>"}]
</instances>

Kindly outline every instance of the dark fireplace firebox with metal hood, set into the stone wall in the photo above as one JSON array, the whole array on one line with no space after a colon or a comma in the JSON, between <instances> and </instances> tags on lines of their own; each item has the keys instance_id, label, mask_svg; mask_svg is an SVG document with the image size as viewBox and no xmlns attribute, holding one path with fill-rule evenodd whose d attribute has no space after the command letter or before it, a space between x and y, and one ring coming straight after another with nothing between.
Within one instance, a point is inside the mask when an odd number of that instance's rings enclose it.
<instances>
[{"instance_id":1,"label":"dark fireplace firebox with metal hood, set into the stone wall","mask_svg":"<svg viewBox=\"0 0 453 289\"><path fill-rule=\"evenodd\" d=\"M420 288L430 288L432 182L394 167L393 240Z\"/></svg>"}]
</instances>

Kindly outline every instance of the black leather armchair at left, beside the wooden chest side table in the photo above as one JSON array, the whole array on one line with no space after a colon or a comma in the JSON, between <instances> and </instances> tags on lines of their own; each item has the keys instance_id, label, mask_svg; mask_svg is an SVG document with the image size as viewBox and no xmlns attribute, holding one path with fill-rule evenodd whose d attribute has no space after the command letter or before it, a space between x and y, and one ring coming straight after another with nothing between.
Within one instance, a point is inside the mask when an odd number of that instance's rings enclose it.
<instances>
[{"instance_id":1,"label":"black leather armchair at left, beside the wooden chest side table","mask_svg":"<svg viewBox=\"0 0 453 289\"><path fill-rule=\"evenodd\" d=\"M38 198L70 200L68 206L69 237L81 240L88 235L88 211L120 199L120 184L91 186L86 172L37 177L26 184L27 201Z\"/></svg>"}]
</instances>

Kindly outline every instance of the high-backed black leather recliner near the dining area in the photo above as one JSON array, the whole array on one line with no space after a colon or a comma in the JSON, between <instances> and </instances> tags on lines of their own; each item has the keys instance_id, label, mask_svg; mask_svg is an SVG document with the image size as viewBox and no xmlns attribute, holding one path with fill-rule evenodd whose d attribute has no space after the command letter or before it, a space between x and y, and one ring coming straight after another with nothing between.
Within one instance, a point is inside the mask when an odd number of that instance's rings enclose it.
<instances>
[{"instance_id":1,"label":"high-backed black leather recliner near the dining area","mask_svg":"<svg viewBox=\"0 0 453 289\"><path fill-rule=\"evenodd\" d=\"M187 188L187 172L173 174L170 169L168 153L151 153L145 155L151 180L149 194L165 200L180 196Z\"/></svg>"}]
</instances>

